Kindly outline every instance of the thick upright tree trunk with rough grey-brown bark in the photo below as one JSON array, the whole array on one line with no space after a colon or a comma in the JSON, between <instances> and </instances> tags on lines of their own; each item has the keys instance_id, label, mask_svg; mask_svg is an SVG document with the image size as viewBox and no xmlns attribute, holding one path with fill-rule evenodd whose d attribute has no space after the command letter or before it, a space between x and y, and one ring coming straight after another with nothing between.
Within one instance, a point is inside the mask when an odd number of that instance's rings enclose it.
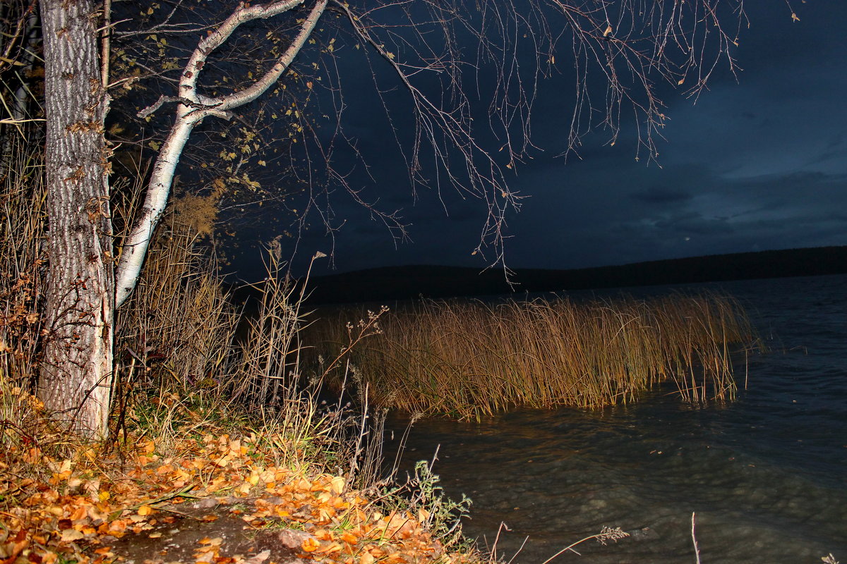
<instances>
[{"instance_id":1,"label":"thick upright tree trunk with rough grey-brown bark","mask_svg":"<svg viewBox=\"0 0 847 564\"><path fill-rule=\"evenodd\" d=\"M105 435L112 384L113 262L104 94L91 0L42 0L47 118L47 304L39 396Z\"/></svg>"}]
</instances>

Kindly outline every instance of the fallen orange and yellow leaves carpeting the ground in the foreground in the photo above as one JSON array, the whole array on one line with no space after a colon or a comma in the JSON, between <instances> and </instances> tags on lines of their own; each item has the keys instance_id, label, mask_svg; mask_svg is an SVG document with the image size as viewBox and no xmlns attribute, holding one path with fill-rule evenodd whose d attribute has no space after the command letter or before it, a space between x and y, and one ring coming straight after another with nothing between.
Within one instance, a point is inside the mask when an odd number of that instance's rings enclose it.
<instances>
[{"instance_id":1,"label":"fallen orange and yellow leaves carpeting the ground in the foreground","mask_svg":"<svg viewBox=\"0 0 847 564\"><path fill-rule=\"evenodd\" d=\"M66 459L38 446L0 453L0 564L470 559L447 552L425 514L382 512L343 477L277 466L255 434L135 441ZM50 475L23 477L22 463Z\"/></svg>"}]
</instances>

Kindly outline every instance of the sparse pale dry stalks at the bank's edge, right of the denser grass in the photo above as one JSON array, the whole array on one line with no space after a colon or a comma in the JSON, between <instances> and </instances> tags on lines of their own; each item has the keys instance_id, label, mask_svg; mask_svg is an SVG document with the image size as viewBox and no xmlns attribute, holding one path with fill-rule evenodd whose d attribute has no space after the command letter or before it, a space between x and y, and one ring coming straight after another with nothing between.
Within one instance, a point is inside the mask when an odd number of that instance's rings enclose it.
<instances>
[{"instance_id":1,"label":"sparse pale dry stalks at the bank's edge, right of the denser grass","mask_svg":"<svg viewBox=\"0 0 847 564\"><path fill-rule=\"evenodd\" d=\"M313 261L322 256L318 253ZM302 302L308 274L294 282L274 245L266 266L267 276L253 287L257 315L249 320L226 376L227 397L262 420L257 435L267 437L280 464L297 468L323 463L357 485L372 485L381 468L383 418L371 417L367 408L356 415L349 405L325 402L320 396L324 376L343 366L347 353L374 331L376 317L357 335L348 334L346 351L330 357L319 374L304 377L301 331L308 314Z\"/></svg>"}]
</instances>

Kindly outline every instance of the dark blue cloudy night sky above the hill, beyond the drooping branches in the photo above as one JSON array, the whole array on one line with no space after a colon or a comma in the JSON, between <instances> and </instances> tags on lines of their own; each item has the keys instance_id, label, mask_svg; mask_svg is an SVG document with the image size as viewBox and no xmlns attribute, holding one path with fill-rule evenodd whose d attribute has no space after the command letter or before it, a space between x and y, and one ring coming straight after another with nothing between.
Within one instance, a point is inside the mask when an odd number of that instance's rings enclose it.
<instances>
[{"instance_id":1,"label":"dark blue cloudy night sky above the hill, beyond the drooping branches","mask_svg":"<svg viewBox=\"0 0 847 564\"><path fill-rule=\"evenodd\" d=\"M580 158L558 156L572 103L562 92L573 87L542 83L533 132L544 151L510 178L529 198L508 216L507 265L569 269L847 244L847 3L796 0L792 8L799 22L783 2L745 3L750 29L734 52L743 69L737 82L717 74L696 103L663 92L670 122L657 163L635 161L632 123L614 146L600 132L585 139ZM335 233L335 271L488 266L490 256L471 255L484 203L448 193L445 210L431 191L412 198L402 162L386 148L388 132L369 117L372 96L355 94L344 125L374 180L354 175L354 183L383 209L402 210L412 242L396 245L385 226L340 197L335 212L347 222ZM315 226L299 260L330 249ZM322 261L317 273L328 267Z\"/></svg>"}]
</instances>

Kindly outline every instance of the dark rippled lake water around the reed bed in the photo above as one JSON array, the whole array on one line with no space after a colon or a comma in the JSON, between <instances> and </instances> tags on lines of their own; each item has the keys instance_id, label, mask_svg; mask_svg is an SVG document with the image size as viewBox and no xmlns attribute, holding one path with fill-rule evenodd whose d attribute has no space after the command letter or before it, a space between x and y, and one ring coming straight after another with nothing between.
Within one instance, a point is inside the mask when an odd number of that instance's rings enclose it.
<instances>
[{"instance_id":1,"label":"dark rippled lake water around the reed bed","mask_svg":"<svg viewBox=\"0 0 847 564\"><path fill-rule=\"evenodd\" d=\"M403 468L431 458L465 531L498 555L554 562L847 562L847 277L699 285L739 298L772 352L736 366L737 401L693 407L657 390L601 411L518 410L479 423L424 419ZM635 296L673 287L636 288ZM573 294L578 296L579 294ZM606 294L608 295L608 294ZM391 420L395 435L404 422ZM396 442L388 441L386 452Z\"/></svg>"}]
</instances>

